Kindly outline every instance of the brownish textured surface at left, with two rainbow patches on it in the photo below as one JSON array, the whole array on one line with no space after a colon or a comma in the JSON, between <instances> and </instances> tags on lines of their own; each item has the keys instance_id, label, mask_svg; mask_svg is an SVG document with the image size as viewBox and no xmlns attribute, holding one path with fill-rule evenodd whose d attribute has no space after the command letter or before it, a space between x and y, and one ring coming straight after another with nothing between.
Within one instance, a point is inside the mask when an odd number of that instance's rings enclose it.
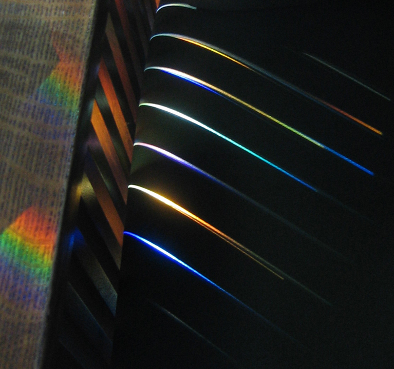
<instances>
[{"instance_id":1,"label":"brownish textured surface at left, with two rainbow patches on it","mask_svg":"<svg viewBox=\"0 0 394 369\"><path fill-rule=\"evenodd\" d=\"M38 365L96 0L0 3L0 367Z\"/></svg>"}]
</instances>

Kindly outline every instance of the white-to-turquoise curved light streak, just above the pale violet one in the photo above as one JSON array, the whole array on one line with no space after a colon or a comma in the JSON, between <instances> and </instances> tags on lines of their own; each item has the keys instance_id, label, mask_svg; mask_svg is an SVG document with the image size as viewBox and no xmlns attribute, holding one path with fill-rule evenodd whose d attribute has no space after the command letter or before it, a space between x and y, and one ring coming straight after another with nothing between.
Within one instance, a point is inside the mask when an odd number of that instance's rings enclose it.
<instances>
[{"instance_id":1,"label":"white-to-turquoise curved light streak, just above the pale violet one","mask_svg":"<svg viewBox=\"0 0 394 369\"><path fill-rule=\"evenodd\" d=\"M196 120L196 119L191 118L190 116L187 116L187 115L185 115L185 114L183 114L183 113L180 113L180 112L178 112L178 111L176 111L176 110L174 110L174 109L167 108L167 107L165 107L165 106L163 106L163 105L158 105L158 104L153 104L153 103L141 103L139 106L148 106L148 107L160 109L160 110L163 110L163 111L165 111L165 112L167 112L167 113L170 113L170 114L172 114L172 115L175 115L175 116L177 116L177 117L180 117L180 118L182 118L182 119L184 119L184 120L187 120L187 121L189 121L189 122L191 122L191 123L193 123L193 124L195 124L195 125L197 125L197 126L203 128L203 129L205 129L205 130L207 130L207 131L209 131L209 132L215 134L216 136L218 136L218 137L220 137L220 138L222 138L222 139L224 139L224 140L230 142L230 144L236 146L237 148L239 148L239 149L241 149L241 150L243 150L243 151L246 151L248 154L253 155L254 157L258 158L259 160L264 161L264 162L265 162L266 164L268 164L269 166L275 168L275 169L278 170L279 172L282 172L282 173L286 174L286 175L289 176L290 178L295 179L297 182L302 183L302 185L308 187L309 189L311 189L311 190L313 190L313 191L315 191L315 192L318 192L314 187L312 187L311 185L308 185L308 183L304 182L302 179L299 179L298 177L296 177L296 176L292 175L291 173L285 171L284 169L278 167L277 165L275 165L275 164L272 163L271 161L269 161L269 160L265 159L264 157L262 157L262 156L256 154L255 152L249 150L249 149L246 148L245 146L242 146L242 145L238 144L238 142L235 142L235 141L232 140L231 138L229 138L229 137L227 137L227 136L224 136L223 134L221 134L221 133L215 131L214 129L212 129L212 128L208 127L208 126L205 126L203 123L199 122L199 121Z\"/></svg>"}]
</instances>

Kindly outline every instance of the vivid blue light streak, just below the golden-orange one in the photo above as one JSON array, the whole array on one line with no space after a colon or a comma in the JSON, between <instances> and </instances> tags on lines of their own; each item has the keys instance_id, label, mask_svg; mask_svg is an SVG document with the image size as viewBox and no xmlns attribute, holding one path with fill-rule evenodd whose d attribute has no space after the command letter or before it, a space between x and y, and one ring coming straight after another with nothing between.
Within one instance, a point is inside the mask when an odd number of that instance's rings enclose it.
<instances>
[{"instance_id":1,"label":"vivid blue light streak, just below the golden-orange one","mask_svg":"<svg viewBox=\"0 0 394 369\"><path fill-rule=\"evenodd\" d=\"M222 289L219 285L217 285L215 282L211 281L210 279L208 279L207 277L205 277L204 275L202 275L201 273L197 272L195 269L193 269L192 267L190 267L189 265L187 265L186 263L184 263L182 260L179 260L177 257L175 257L174 255L170 254L169 252L165 251L164 249L162 249L161 247L159 247L157 244L148 241L147 239L136 235L135 233L132 232L124 232L125 235L127 236L131 236L134 237L135 239L145 243L146 245L148 245L149 247L151 247L152 249L158 251L159 253L163 254L164 256L166 256L168 259L171 259L173 261L175 261L176 263L178 263L179 265L181 265L183 268L187 269L188 271L196 274L198 277L200 277L201 279L203 279L205 282L208 282L209 284L213 285L214 287L216 287L219 291L223 292L225 295L229 296L231 299L235 300L236 302L238 302L243 308L247 309L248 311L250 311L251 313L253 313L254 315L256 315L257 317L259 317L261 320L263 320L265 323L267 323L269 326L271 326L274 330L282 333L283 335L285 335L287 338L290 338L293 342L302 345L301 343L299 343L298 341L296 341L293 337L289 336L287 333L285 333L282 329L280 329L277 325L275 325L274 323L272 323L271 321L269 321L267 318L265 318L264 316L260 315L259 313L257 313L255 310L253 310L250 306L248 306L246 303L242 302L241 300L237 299L235 296L233 296L231 293L227 292L226 290ZM302 345L303 346L303 345Z\"/></svg>"}]
</instances>

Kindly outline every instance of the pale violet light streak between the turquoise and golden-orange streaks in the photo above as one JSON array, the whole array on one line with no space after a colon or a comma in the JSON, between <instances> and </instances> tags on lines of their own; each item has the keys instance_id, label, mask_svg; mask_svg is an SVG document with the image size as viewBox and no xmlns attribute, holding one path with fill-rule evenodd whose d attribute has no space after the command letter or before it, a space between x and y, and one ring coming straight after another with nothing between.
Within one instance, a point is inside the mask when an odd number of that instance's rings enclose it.
<instances>
[{"instance_id":1,"label":"pale violet light streak between the turquoise and golden-orange streaks","mask_svg":"<svg viewBox=\"0 0 394 369\"><path fill-rule=\"evenodd\" d=\"M229 191L237 194L238 196L242 197L243 199L251 202L254 206L258 207L259 209L263 210L264 212L266 212L267 214L269 214L270 216L272 216L273 218L279 220L280 222L284 223L287 227L291 228L292 230L300 233L301 235L303 235L304 237L310 239L311 241L317 243L318 245L320 245L321 247L333 252L334 254L336 254L337 256L339 256L341 259L343 260L347 260L347 258L342 255L341 253L339 253L338 251L336 251L335 249L329 247L327 244L325 244L324 242L322 242L321 240L317 239L316 237L311 236L309 233L305 232L304 230L302 230L301 228L297 227L295 224L293 224L292 222L290 222L289 220L285 219L284 217L280 216L279 214L276 214L275 212L273 212L272 210L268 209L267 207L261 205L259 202L253 200L251 197L243 194L242 192L236 190L234 187L229 186L227 183L221 181L220 179L214 177L213 175L203 171L202 169L194 166L192 163L190 163L189 161L186 161L182 158L180 158L179 156L174 155L171 152L168 152L164 149L161 149L157 146L151 145L151 144L146 144L145 142L136 142L134 144L134 146L141 146L141 147L145 147L147 149L153 150L158 152L159 154L167 157L168 159L171 159L187 168L190 168L192 170L194 170L195 172L211 179L212 181L218 183L219 185L223 186L224 188L228 189Z\"/></svg>"}]
</instances>

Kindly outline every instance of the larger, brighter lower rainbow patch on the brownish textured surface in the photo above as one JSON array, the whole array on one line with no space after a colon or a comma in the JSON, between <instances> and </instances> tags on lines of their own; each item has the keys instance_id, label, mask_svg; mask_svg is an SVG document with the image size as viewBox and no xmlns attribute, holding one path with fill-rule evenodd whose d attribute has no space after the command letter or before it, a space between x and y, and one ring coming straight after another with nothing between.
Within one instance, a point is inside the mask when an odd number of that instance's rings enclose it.
<instances>
[{"instance_id":1,"label":"larger, brighter lower rainbow patch on the brownish textured surface","mask_svg":"<svg viewBox=\"0 0 394 369\"><path fill-rule=\"evenodd\" d=\"M56 237L51 218L35 207L0 234L0 289L7 291L8 303L24 301L26 311L43 310Z\"/></svg>"}]
</instances>

